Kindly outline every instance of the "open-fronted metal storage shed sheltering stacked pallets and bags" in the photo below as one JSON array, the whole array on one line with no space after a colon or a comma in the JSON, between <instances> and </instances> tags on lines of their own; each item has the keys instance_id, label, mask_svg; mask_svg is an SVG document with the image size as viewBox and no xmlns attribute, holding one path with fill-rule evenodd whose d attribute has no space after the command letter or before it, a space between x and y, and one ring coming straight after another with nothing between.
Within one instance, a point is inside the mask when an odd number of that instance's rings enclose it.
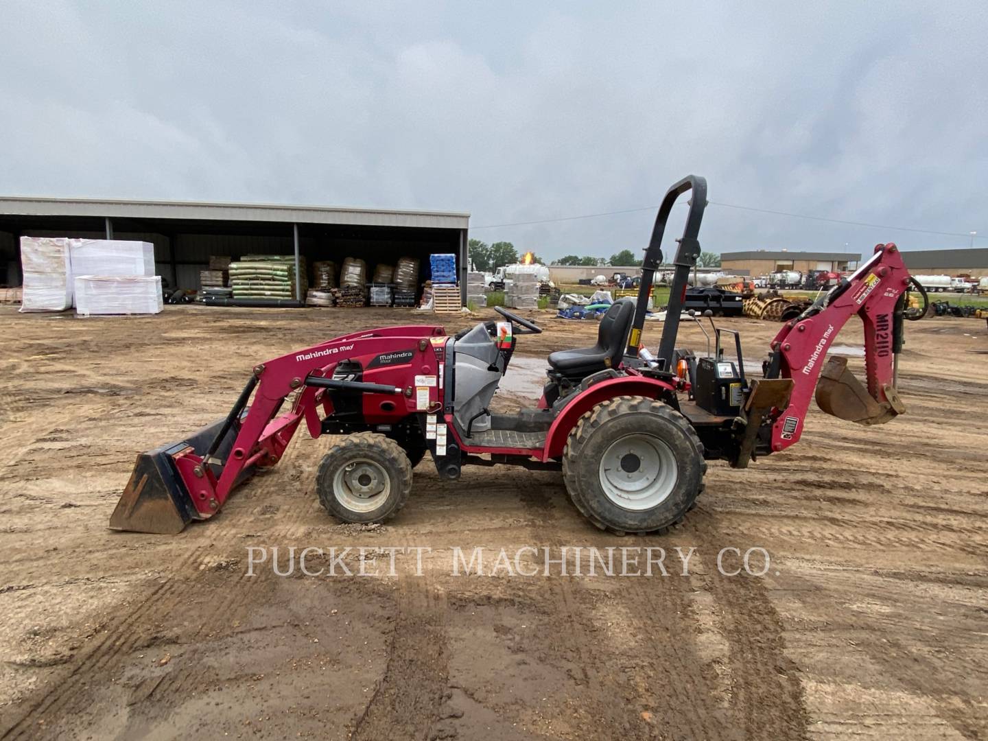
<instances>
[{"instance_id":1,"label":"open-fronted metal storage shed sheltering stacked pallets and bags","mask_svg":"<svg viewBox=\"0 0 988 741\"><path fill-rule=\"evenodd\" d=\"M21 283L22 236L132 239L154 244L157 274L171 288L200 288L209 257L296 255L309 265L362 258L377 263L453 253L466 287L468 213L323 206L199 204L167 201L0 198L0 285Z\"/></svg>"}]
</instances>

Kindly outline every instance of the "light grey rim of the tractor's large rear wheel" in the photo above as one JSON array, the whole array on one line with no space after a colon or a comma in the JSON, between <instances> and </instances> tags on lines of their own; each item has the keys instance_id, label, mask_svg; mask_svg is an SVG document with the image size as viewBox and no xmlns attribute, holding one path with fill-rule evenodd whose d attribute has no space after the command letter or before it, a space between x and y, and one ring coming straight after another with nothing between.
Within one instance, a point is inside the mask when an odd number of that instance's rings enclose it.
<instances>
[{"instance_id":1,"label":"light grey rim of the tractor's large rear wheel","mask_svg":"<svg viewBox=\"0 0 988 741\"><path fill-rule=\"evenodd\" d=\"M635 433L617 439L600 462L601 488L625 510L650 510L673 493L679 481L676 455L664 441Z\"/></svg>"}]
</instances>

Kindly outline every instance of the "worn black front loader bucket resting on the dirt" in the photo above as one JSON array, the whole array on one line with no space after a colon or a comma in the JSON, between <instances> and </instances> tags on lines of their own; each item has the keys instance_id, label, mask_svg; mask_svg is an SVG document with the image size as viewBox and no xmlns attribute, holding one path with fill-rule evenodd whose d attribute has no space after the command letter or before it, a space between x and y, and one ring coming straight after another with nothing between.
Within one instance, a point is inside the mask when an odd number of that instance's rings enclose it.
<instances>
[{"instance_id":1,"label":"worn black front loader bucket resting on the dirt","mask_svg":"<svg viewBox=\"0 0 988 741\"><path fill-rule=\"evenodd\" d=\"M202 520L173 456L183 452L203 455L213 438L222 431L224 423L223 419L217 420L184 441L139 453L124 494L110 518L110 527L135 533L175 535L193 520ZM220 442L216 457L225 459L235 439L234 426ZM252 473L253 466L245 468L237 477L237 483Z\"/></svg>"}]
</instances>

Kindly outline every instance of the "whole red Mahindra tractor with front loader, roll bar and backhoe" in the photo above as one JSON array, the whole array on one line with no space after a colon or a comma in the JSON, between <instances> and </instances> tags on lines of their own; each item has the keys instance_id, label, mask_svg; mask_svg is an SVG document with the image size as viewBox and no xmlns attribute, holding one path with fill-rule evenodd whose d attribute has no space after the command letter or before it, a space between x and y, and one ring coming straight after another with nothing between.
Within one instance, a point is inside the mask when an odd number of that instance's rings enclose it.
<instances>
[{"instance_id":1,"label":"whole red Mahindra tractor with front loader, roll bar and backhoe","mask_svg":"<svg viewBox=\"0 0 988 741\"><path fill-rule=\"evenodd\" d=\"M690 209L653 356L640 346L647 296L666 221L687 191ZM315 481L328 512L346 522L397 514L411 492L412 469L428 452L449 479L464 465L561 470L573 502L597 527L663 532L693 507L707 459L743 468L796 443L814 389L824 411L862 424L905 411L895 390L903 319L925 311L906 308L915 282L893 244L875 247L854 275L782 326L763 377L749 376L737 333L735 360L724 358L718 329L711 356L676 347L705 206L700 177L669 190L645 251L637 301L611 307L593 347L549 355L531 409L489 411L519 337L541 331L501 307L504 321L453 337L440 326L337 337L255 366L225 419L139 454L110 527L171 534L208 520L255 469L277 463L303 426L313 438L346 436L322 458ZM864 322L866 387L844 359L825 363L855 314Z\"/></svg>"}]
</instances>

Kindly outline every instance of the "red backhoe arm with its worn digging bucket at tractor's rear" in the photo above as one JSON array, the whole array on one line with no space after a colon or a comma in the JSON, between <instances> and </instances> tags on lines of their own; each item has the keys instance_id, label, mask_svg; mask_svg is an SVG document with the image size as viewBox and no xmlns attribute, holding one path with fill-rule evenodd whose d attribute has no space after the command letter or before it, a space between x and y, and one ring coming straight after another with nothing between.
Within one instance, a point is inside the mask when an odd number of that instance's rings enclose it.
<instances>
[{"instance_id":1,"label":"red backhoe arm with its worn digging bucket at tractor's rear","mask_svg":"<svg viewBox=\"0 0 988 741\"><path fill-rule=\"evenodd\" d=\"M773 414L773 452L798 442L814 390L823 411L860 424L881 424L905 412L895 388L895 358L902 345L902 305L909 284L898 248L879 244L846 282L786 322L772 342L767 373L768 378L792 381L787 404ZM866 386L847 370L845 358L825 363L841 329L856 314L864 324Z\"/></svg>"}]
</instances>

